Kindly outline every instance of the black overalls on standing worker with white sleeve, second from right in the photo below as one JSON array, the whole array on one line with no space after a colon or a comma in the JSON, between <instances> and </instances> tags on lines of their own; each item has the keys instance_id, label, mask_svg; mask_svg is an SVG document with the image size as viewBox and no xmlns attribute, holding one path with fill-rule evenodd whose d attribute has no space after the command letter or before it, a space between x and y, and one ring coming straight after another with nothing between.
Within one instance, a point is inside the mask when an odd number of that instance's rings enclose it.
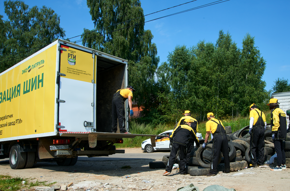
<instances>
[{"instance_id":1,"label":"black overalls on standing worker with white sleeve, second from right","mask_svg":"<svg viewBox=\"0 0 290 191\"><path fill-rule=\"evenodd\" d=\"M257 111L257 110L255 110ZM251 154L250 154L250 163L253 166L257 165L257 157L256 154L258 153L258 165L264 165L264 136L265 136L265 122L262 118L262 111L261 115L258 113L258 120L252 128L252 135L250 140L250 147L251 147Z\"/></svg>"}]
</instances>

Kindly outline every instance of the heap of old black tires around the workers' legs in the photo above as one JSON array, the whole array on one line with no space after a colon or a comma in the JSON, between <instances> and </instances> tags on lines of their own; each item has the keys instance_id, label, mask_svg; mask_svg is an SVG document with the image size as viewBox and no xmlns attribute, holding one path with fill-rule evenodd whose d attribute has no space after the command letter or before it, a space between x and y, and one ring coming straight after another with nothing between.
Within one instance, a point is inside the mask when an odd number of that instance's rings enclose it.
<instances>
[{"instance_id":1,"label":"heap of old black tires around the workers' legs","mask_svg":"<svg viewBox=\"0 0 290 191\"><path fill-rule=\"evenodd\" d=\"M250 134L249 126L246 126L232 133L231 126L226 126L225 131L228 138L229 156L230 156L230 171L242 170L248 167L250 162ZM265 130L265 147L264 147L264 162L269 160L275 154L274 143L272 140L271 125L267 124ZM204 139L200 140L203 144ZM212 160L212 140L203 149L194 148L190 153L189 165L186 168L187 174L191 176L203 176L209 173ZM290 133L287 134L286 141L283 141L286 166L290 168ZM257 154L258 156L258 154ZM168 162L169 155L165 155L162 161L150 162L150 168L165 168ZM274 160L275 163L276 160ZM178 161L176 161L178 163ZM273 163L273 164L274 164ZM223 155L220 153L218 171L224 171L225 165Z\"/></svg>"}]
</instances>

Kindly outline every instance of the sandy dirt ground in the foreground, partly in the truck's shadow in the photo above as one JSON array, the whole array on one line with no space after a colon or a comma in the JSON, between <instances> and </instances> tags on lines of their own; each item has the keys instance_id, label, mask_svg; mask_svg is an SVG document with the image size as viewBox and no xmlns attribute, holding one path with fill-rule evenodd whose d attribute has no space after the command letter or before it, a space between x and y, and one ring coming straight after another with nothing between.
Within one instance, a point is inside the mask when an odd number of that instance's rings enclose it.
<instances>
[{"instance_id":1,"label":"sandy dirt ground in the foreground, partly in the truck's shadow","mask_svg":"<svg viewBox=\"0 0 290 191\"><path fill-rule=\"evenodd\" d=\"M125 153L142 153L140 148L125 149ZM141 154L140 154L141 155ZM161 161L160 158L159 161ZM32 181L57 182L69 185L68 190L164 190L175 191L194 184L199 190L210 185L221 185L237 191L290 190L290 169L274 172L269 167L245 169L216 176L180 175L173 170L162 176L164 169L150 169L152 159L124 159L120 161L78 161L74 166L59 167L55 162L36 163L31 169L12 170L9 162L0 162L0 174L30 178ZM157 160L158 161L158 160ZM121 167L130 166L131 169ZM130 178L126 178L130 176ZM27 190L23 188L22 190Z\"/></svg>"}]
</instances>

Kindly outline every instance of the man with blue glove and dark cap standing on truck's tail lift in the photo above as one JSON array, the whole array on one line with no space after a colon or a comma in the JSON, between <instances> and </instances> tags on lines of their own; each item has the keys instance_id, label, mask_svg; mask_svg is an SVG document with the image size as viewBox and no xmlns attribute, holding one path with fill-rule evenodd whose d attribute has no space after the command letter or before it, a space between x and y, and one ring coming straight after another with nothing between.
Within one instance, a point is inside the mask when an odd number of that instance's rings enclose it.
<instances>
[{"instance_id":1,"label":"man with blue glove and dark cap standing on truck's tail lift","mask_svg":"<svg viewBox=\"0 0 290 191\"><path fill-rule=\"evenodd\" d=\"M112 133L117 132L117 122L119 122L120 133L128 133L125 128L125 106L124 102L128 99L130 108L130 116L132 117L134 112L132 110L132 98L135 89L132 86L127 86L126 89L119 89L113 95L112 100Z\"/></svg>"}]
</instances>

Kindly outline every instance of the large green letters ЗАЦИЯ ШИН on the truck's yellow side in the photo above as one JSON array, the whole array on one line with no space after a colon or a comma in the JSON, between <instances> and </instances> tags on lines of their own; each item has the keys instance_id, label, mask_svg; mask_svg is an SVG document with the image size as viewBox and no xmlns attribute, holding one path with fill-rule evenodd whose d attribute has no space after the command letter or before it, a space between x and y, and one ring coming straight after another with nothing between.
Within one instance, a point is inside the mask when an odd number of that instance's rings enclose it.
<instances>
[{"instance_id":1,"label":"large green letters \u0417\u0410\u0426\u0418\u042f \u0428\u0418\u041d on the truck's yellow side","mask_svg":"<svg viewBox=\"0 0 290 191\"><path fill-rule=\"evenodd\" d=\"M26 80L23 82L23 94L29 93L31 91L39 89L40 87L43 87L43 75L44 73L40 75L35 76L35 78L31 78L29 80ZM21 84L12 86L11 88L4 90L3 92L0 92L0 104L6 101L10 101L13 98L17 98L17 96L20 96L21 93Z\"/></svg>"}]
</instances>

